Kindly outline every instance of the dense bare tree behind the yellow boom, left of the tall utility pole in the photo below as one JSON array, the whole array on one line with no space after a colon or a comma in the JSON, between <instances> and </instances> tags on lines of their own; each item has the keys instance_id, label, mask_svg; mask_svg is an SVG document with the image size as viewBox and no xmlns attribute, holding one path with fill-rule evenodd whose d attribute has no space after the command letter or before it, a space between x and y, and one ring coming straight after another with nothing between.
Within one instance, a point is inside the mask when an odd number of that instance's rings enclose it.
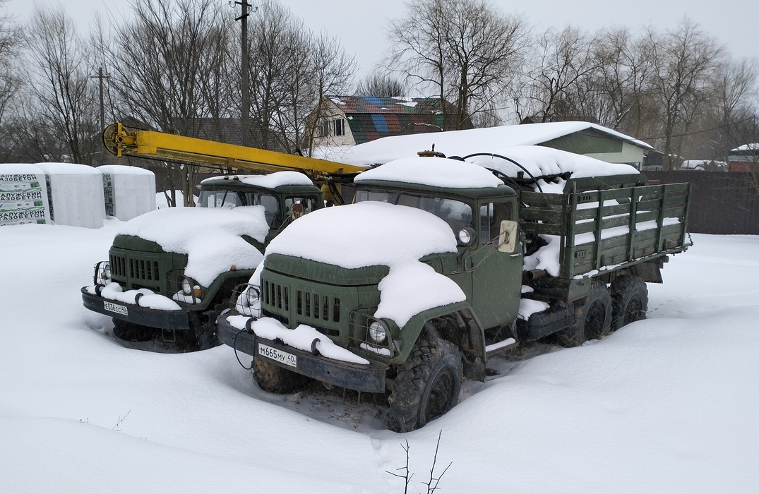
<instances>
[{"instance_id":1,"label":"dense bare tree behind the yellow boom, left of the tall utility pole","mask_svg":"<svg viewBox=\"0 0 759 494\"><path fill-rule=\"evenodd\" d=\"M218 128L225 108L228 33L213 0L135 0L134 19L109 46L112 86L121 114L159 130L199 137ZM214 121L216 118L216 121ZM168 165L185 206L194 204L197 168Z\"/></svg>"}]
</instances>

